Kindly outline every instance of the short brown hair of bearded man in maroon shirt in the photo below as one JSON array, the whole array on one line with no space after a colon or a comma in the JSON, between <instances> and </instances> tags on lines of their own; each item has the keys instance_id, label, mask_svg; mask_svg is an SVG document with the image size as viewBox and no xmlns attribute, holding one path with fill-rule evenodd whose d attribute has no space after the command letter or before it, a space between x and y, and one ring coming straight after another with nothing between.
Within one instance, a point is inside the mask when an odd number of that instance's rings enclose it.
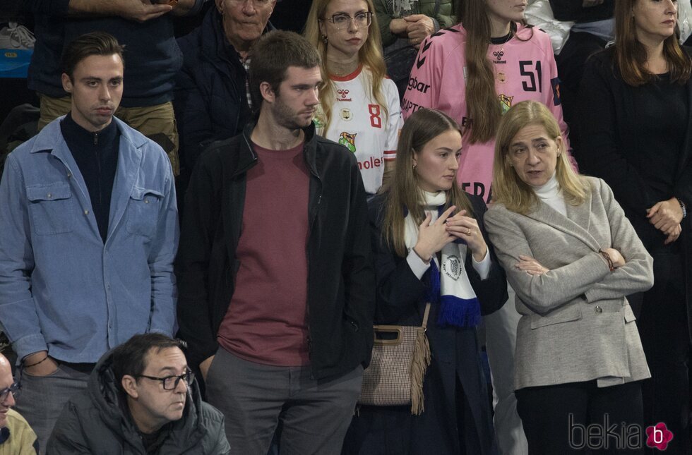
<instances>
[{"instance_id":1,"label":"short brown hair of bearded man in maroon shirt","mask_svg":"<svg viewBox=\"0 0 692 455\"><path fill-rule=\"evenodd\" d=\"M260 84L269 83L278 95L289 66L315 68L320 66L320 55L304 37L284 30L268 32L253 45L248 75L253 111L262 106Z\"/></svg>"}]
</instances>

